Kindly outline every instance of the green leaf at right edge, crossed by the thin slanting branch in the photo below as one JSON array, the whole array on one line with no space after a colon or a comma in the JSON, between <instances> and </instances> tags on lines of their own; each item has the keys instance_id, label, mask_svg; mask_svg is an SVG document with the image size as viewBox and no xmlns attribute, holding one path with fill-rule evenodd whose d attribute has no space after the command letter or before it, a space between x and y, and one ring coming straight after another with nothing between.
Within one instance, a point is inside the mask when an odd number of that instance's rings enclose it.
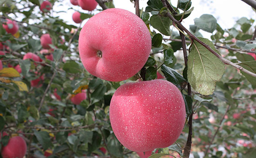
<instances>
[{"instance_id":1,"label":"green leaf at right edge, crossed by the thin slanting branch","mask_svg":"<svg viewBox=\"0 0 256 158\"><path fill-rule=\"evenodd\" d=\"M249 61L249 62L243 62L239 63L238 65L242 66L244 69L249 70L256 74L256 61ZM256 86L256 77L250 76L249 74L240 71L243 76L253 85Z\"/></svg>"}]
</instances>

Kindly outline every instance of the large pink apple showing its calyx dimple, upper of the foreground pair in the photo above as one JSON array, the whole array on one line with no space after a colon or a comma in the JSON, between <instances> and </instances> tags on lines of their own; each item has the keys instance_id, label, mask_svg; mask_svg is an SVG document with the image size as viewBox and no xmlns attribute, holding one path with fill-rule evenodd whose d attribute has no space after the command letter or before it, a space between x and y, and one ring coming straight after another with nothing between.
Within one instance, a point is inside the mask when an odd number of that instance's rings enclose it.
<instances>
[{"instance_id":1,"label":"large pink apple showing its calyx dimple, upper of the foreground pair","mask_svg":"<svg viewBox=\"0 0 256 158\"><path fill-rule=\"evenodd\" d=\"M134 76L148 60L151 38L134 13L110 8L92 18L79 35L85 69L103 80L119 82Z\"/></svg>"}]
</instances>

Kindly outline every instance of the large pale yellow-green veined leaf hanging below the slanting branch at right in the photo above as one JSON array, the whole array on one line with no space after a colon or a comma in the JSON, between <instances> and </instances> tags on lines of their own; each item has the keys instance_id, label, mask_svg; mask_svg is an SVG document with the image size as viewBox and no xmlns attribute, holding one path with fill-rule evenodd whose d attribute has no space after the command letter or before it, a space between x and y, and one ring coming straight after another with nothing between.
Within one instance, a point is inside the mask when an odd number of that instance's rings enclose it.
<instances>
[{"instance_id":1,"label":"large pale yellow-green veined leaf hanging below the slanting branch at right","mask_svg":"<svg viewBox=\"0 0 256 158\"><path fill-rule=\"evenodd\" d=\"M199 39L218 52L208 39ZM188 81L191 87L202 95L211 95L223 73L224 64L201 44L194 42L188 57Z\"/></svg>"}]
</instances>

